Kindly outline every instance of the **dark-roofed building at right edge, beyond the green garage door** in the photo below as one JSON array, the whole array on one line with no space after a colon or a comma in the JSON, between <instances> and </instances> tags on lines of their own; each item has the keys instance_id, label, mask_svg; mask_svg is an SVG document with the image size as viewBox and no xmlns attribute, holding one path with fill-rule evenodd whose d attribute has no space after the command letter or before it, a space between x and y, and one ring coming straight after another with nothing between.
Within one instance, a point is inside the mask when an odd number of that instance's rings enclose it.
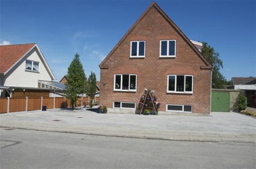
<instances>
[{"instance_id":1,"label":"dark-roofed building at right edge, beyond the green garage door","mask_svg":"<svg viewBox=\"0 0 256 169\"><path fill-rule=\"evenodd\" d=\"M233 77L231 83L228 89L239 89L246 96L248 105L256 107L256 78Z\"/></svg>"}]
</instances>

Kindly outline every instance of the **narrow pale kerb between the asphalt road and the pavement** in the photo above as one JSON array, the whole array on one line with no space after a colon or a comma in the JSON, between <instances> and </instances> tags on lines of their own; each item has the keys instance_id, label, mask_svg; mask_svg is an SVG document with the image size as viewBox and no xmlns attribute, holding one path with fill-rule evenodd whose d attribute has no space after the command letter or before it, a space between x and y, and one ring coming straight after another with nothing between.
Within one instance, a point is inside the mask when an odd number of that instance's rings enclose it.
<instances>
[{"instance_id":1,"label":"narrow pale kerb between the asphalt road and the pavement","mask_svg":"<svg viewBox=\"0 0 256 169\"><path fill-rule=\"evenodd\" d=\"M22 129L22 130L32 130L32 131L40 131L40 132L60 132L60 133L70 133L70 134L84 134L84 135L92 135L92 136L105 136L105 137L123 137L123 138L137 138L137 139L150 139L150 140L165 140L165 141L182 141L182 142L231 142L231 143L256 143L250 141L216 141L216 140L187 140L187 139L179 139L179 138L166 138L166 137L139 137L139 136L125 136L118 134L98 134L98 133L89 133L89 132L74 132L74 131L61 131L61 130L43 130L43 129L34 129L34 128L21 128L21 127L9 127L9 126L0 126L0 128L6 128L7 130L13 129Z\"/></svg>"}]
</instances>

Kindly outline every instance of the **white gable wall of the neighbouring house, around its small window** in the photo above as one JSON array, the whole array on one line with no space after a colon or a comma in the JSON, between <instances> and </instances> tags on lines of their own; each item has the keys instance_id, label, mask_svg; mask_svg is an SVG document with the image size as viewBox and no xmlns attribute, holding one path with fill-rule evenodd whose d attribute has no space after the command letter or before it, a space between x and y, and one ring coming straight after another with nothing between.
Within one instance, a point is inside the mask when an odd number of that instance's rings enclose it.
<instances>
[{"instance_id":1,"label":"white gable wall of the neighbouring house, around its small window","mask_svg":"<svg viewBox=\"0 0 256 169\"><path fill-rule=\"evenodd\" d=\"M25 71L26 59L39 62L39 73ZM14 87L38 87L38 80L51 81L43 60L39 57L39 52L34 48L19 64L14 66L3 78L4 86Z\"/></svg>"}]
</instances>

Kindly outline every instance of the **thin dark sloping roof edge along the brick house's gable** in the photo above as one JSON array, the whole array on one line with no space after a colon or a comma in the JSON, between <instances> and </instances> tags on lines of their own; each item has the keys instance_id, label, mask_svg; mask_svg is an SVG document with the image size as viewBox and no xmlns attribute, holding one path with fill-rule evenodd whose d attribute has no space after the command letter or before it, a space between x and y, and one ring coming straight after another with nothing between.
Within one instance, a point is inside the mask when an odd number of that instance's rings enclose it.
<instances>
[{"instance_id":1,"label":"thin dark sloping roof edge along the brick house's gable","mask_svg":"<svg viewBox=\"0 0 256 169\"><path fill-rule=\"evenodd\" d=\"M112 53L118 48L118 46L121 45L121 43L126 39L126 37L130 34L130 32L133 31L133 29L136 27L138 23L144 18L144 16L150 11L151 8L155 8L159 14L161 14L164 19L174 28L176 32L179 33L181 37L183 37L184 41L187 42L188 46L192 48L192 50L199 56L200 59L203 60L204 64L207 66L207 68L212 68L212 64L203 56L203 54L197 49L195 45L186 37L186 35L179 29L179 27L167 16L167 14L164 13L164 11L153 1L150 6L145 10L145 12L140 16L140 18L130 27L130 29L126 32L126 34L121 38L121 40L116 44L116 46L110 51L110 53L106 56L105 59L102 60L99 67L101 69L107 69L106 66L104 66L104 63L107 59L112 55Z\"/></svg>"}]
</instances>

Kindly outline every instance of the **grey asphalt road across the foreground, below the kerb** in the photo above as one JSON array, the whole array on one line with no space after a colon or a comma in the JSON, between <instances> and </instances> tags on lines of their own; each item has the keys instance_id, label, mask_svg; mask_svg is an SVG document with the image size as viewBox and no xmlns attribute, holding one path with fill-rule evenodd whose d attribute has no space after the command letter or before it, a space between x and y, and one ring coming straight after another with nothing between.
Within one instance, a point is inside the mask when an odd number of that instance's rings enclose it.
<instances>
[{"instance_id":1,"label":"grey asphalt road across the foreground, below the kerb","mask_svg":"<svg viewBox=\"0 0 256 169\"><path fill-rule=\"evenodd\" d=\"M255 169L256 144L103 137L0 128L1 169Z\"/></svg>"}]
</instances>

